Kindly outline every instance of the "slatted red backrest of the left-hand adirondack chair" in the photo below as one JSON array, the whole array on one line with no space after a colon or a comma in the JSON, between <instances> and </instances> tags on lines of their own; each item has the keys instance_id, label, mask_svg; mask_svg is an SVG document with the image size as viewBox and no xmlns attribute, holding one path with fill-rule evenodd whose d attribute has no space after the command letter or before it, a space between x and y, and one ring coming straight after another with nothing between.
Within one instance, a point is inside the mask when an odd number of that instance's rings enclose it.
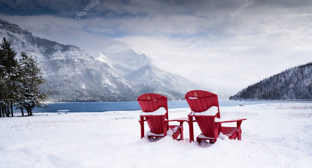
<instances>
[{"instance_id":1,"label":"slatted red backrest of the left-hand adirondack chair","mask_svg":"<svg viewBox=\"0 0 312 168\"><path fill-rule=\"evenodd\" d=\"M161 107L165 108L167 111L166 118L168 120L167 97L160 95L160 94L149 93L149 94L140 95L137 101L139 102L141 110L146 113L156 111L158 108L161 108ZM163 133L163 117L151 116L151 117L145 117L145 119L152 133L154 134ZM169 127L167 126L167 130L168 128Z\"/></svg>"}]
</instances>

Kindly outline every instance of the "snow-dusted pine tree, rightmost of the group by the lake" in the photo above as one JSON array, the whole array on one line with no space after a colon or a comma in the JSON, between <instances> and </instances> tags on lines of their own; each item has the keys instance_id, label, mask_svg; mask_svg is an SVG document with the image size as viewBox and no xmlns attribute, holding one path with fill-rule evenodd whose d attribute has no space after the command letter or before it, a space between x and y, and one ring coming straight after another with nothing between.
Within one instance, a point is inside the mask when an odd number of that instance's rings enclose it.
<instances>
[{"instance_id":1,"label":"snow-dusted pine tree, rightmost of the group by the lake","mask_svg":"<svg viewBox=\"0 0 312 168\"><path fill-rule=\"evenodd\" d=\"M41 69L38 67L36 60L28 56L25 52L21 53L20 62L20 81L21 94L18 95L19 107L27 110L28 115L32 115L32 109L35 107L48 107L42 103L46 101L50 93L44 93L39 89L39 85L46 81L42 76Z\"/></svg>"}]
</instances>

